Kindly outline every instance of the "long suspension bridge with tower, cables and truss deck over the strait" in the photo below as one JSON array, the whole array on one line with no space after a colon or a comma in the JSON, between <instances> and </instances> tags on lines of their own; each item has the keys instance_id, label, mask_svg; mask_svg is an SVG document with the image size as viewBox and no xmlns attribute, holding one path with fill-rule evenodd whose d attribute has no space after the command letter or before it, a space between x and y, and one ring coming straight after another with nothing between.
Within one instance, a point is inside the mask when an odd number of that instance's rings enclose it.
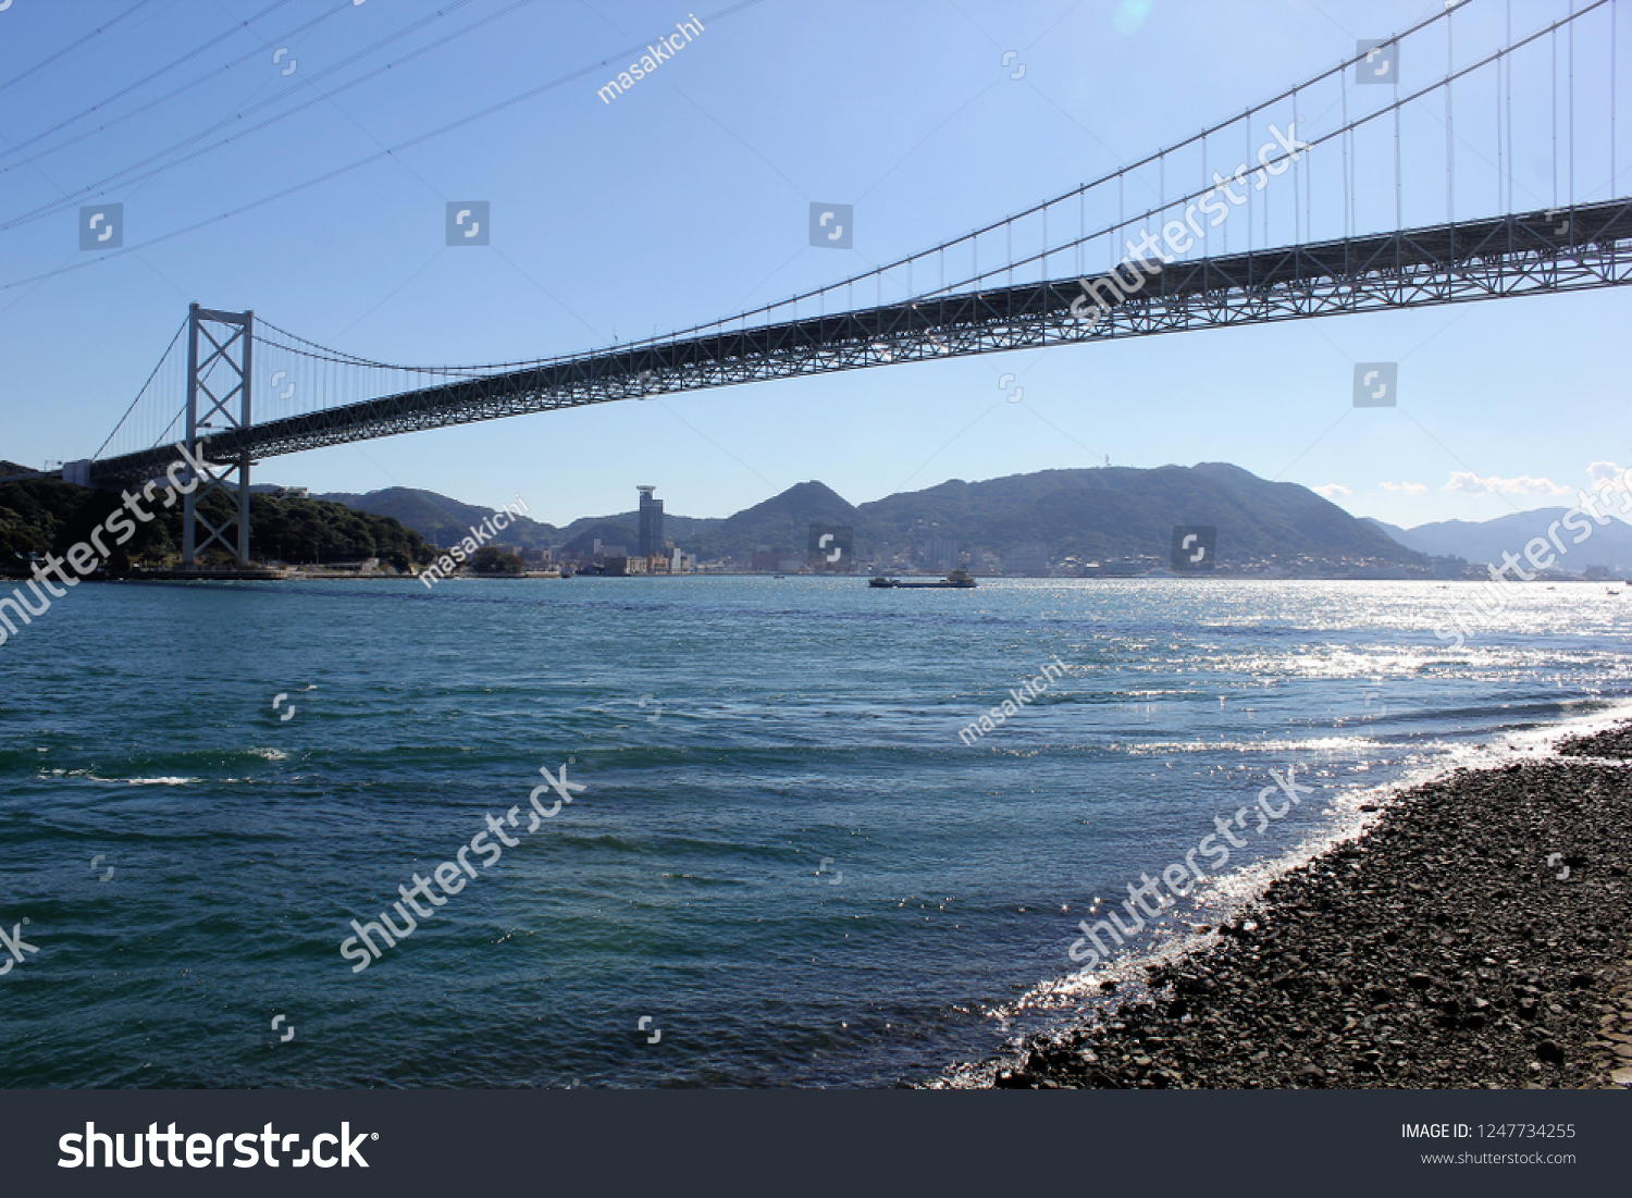
<instances>
[{"instance_id":1,"label":"long suspension bridge with tower, cables and truss deck over the strait","mask_svg":"<svg viewBox=\"0 0 1632 1198\"><path fill-rule=\"evenodd\" d=\"M181 444L206 475L186 501L184 563L215 542L248 563L250 468L279 454L832 370L1632 282L1617 0L1519 29L1506 3L1505 20L1462 31L1474 2L1023 212L643 341L393 366L194 304L101 449L62 473L155 478ZM237 522L197 540L196 503L215 488L237 493Z\"/></svg>"}]
</instances>

